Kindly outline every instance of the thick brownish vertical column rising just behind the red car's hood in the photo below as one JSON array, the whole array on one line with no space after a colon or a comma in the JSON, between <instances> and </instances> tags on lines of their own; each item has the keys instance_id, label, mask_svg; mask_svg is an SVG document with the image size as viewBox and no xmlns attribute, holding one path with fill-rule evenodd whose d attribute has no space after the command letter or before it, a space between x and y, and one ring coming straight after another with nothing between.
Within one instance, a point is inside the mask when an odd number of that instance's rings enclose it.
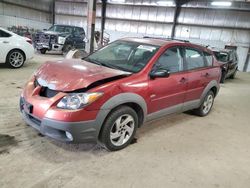
<instances>
[{"instance_id":1,"label":"thick brownish vertical column rising just behind the red car's hood","mask_svg":"<svg viewBox=\"0 0 250 188\"><path fill-rule=\"evenodd\" d=\"M87 39L86 45L87 53L94 51L94 38L95 38L95 19L96 19L96 0L88 1L88 17L87 17Z\"/></svg>"}]
</instances>

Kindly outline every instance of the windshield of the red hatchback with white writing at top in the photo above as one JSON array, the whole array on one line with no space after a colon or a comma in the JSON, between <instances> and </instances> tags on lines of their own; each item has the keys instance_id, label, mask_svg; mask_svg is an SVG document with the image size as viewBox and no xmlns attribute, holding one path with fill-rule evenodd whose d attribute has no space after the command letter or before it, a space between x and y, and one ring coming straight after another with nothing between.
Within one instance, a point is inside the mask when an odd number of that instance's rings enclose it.
<instances>
[{"instance_id":1,"label":"windshield of the red hatchback with white writing at top","mask_svg":"<svg viewBox=\"0 0 250 188\"><path fill-rule=\"evenodd\" d=\"M84 60L128 72L142 70L159 46L129 41L116 41L89 55Z\"/></svg>"}]
</instances>

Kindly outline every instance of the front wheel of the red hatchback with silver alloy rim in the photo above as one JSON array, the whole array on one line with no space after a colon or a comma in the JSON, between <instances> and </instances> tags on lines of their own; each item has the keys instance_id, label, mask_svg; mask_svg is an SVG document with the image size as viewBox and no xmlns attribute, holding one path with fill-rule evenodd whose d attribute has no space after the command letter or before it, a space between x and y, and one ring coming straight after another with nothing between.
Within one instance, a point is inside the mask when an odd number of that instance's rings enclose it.
<instances>
[{"instance_id":1,"label":"front wheel of the red hatchback with silver alloy rim","mask_svg":"<svg viewBox=\"0 0 250 188\"><path fill-rule=\"evenodd\" d=\"M121 106L107 117L100 133L100 141L110 151L121 150L131 143L137 127L136 112L128 106Z\"/></svg>"}]
</instances>

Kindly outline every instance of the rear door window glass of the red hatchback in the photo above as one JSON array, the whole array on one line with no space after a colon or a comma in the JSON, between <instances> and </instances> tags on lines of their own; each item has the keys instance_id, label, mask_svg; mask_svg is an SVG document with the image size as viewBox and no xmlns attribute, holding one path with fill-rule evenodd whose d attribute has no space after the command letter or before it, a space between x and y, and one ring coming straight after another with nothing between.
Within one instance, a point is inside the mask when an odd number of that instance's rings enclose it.
<instances>
[{"instance_id":1,"label":"rear door window glass of the red hatchback","mask_svg":"<svg viewBox=\"0 0 250 188\"><path fill-rule=\"evenodd\" d=\"M195 49L185 49L185 58L187 63L187 69L196 69L200 67L205 67L205 62L203 55L200 51Z\"/></svg>"}]
</instances>

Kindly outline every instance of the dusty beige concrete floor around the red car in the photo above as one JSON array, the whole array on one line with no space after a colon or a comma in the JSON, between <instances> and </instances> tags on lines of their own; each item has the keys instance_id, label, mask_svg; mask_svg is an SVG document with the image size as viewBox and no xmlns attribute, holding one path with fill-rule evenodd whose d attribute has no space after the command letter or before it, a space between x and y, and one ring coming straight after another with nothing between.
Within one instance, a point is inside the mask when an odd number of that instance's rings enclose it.
<instances>
[{"instance_id":1,"label":"dusty beige concrete floor around the red car","mask_svg":"<svg viewBox=\"0 0 250 188\"><path fill-rule=\"evenodd\" d=\"M0 67L0 187L250 187L250 74L221 86L213 111L147 123L118 152L41 137L22 121L21 88L46 59Z\"/></svg>"}]
</instances>

